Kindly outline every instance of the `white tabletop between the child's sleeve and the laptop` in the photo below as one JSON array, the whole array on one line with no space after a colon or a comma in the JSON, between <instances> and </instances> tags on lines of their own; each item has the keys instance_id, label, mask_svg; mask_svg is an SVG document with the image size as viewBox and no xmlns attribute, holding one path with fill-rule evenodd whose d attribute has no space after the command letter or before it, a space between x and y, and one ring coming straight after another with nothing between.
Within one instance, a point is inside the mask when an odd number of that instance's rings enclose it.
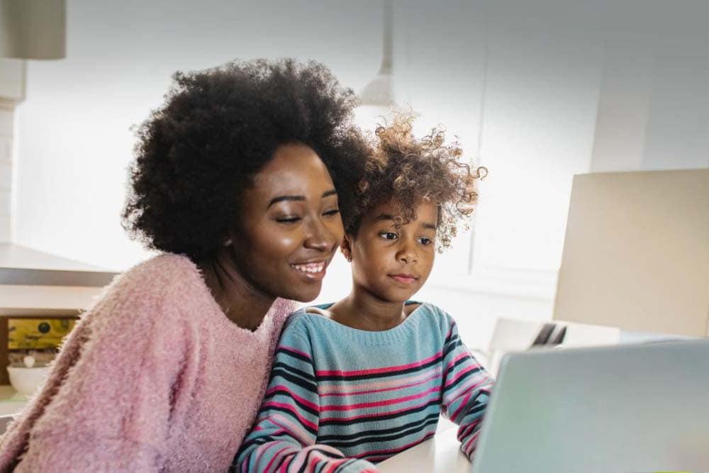
<instances>
[{"instance_id":1,"label":"white tabletop between the child's sleeve and the laptop","mask_svg":"<svg viewBox=\"0 0 709 473\"><path fill-rule=\"evenodd\" d=\"M469 473L471 464L460 450L457 433L457 425L447 425L432 438L384 460L376 467L384 473Z\"/></svg>"}]
</instances>

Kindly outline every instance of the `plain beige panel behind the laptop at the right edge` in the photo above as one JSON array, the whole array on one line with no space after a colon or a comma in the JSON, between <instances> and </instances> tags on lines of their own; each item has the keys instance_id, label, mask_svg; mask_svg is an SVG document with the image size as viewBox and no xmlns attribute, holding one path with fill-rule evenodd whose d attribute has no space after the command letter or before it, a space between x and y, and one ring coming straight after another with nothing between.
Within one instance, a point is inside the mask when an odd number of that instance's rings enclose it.
<instances>
[{"instance_id":1,"label":"plain beige panel behind the laptop at the right edge","mask_svg":"<svg viewBox=\"0 0 709 473\"><path fill-rule=\"evenodd\" d=\"M709 336L709 169L576 175L554 318Z\"/></svg>"}]
</instances>

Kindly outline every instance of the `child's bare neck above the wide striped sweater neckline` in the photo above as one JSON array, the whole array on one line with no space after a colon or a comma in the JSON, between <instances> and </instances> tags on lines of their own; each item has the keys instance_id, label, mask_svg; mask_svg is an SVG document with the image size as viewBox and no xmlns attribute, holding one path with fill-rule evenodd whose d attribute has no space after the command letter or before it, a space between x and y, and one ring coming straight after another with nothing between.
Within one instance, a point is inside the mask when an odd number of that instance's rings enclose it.
<instances>
[{"instance_id":1,"label":"child's bare neck above the wide striped sweater neckline","mask_svg":"<svg viewBox=\"0 0 709 473\"><path fill-rule=\"evenodd\" d=\"M333 321L372 332L394 328L407 316L408 311L403 302L382 301L356 287L349 296L330 307L330 318Z\"/></svg>"}]
</instances>

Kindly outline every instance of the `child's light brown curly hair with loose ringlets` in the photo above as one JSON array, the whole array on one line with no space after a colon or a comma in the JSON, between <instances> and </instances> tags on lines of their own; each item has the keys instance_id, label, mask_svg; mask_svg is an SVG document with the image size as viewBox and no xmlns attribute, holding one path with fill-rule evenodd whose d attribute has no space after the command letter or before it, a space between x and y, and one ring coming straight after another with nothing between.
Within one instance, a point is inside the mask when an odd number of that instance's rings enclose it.
<instances>
[{"instance_id":1,"label":"child's light brown curly hair with loose ringlets","mask_svg":"<svg viewBox=\"0 0 709 473\"><path fill-rule=\"evenodd\" d=\"M406 223L415 219L419 204L436 204L436 246L440 252L450 247L459 223L465 222L467 228L478 200L476 181L487 175L487 169L471 170L462 162L458 141L446 144L445 129L440 126L416 139L413 122L411 113L397 113L391 124L376 128L353 205L340 206L342 219L347 234L357 235L362 216L376 205L391 202L398 210L397 218Z\"/></svg>"}]
</instances>

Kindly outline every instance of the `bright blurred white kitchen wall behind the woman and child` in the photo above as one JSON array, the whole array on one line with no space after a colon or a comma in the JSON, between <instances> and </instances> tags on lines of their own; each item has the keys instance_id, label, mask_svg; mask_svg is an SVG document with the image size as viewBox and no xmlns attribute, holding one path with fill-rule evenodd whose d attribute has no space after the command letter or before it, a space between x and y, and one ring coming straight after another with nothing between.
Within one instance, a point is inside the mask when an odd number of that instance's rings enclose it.
<instances>
[{"instance_id":1,"label":"bright blurred white kitchen wall behind the woman and child","mask_svg":"<svg viewBox=\"0 0 709 473\"><path fill-rule=\"evenodd\" d=\"M552 318L574 174L709 167L707 13L702 0L66 0L64 57L0 59L0 238L128 269L149 257L119 217L133 127L172 73L317 60L358 94L384 87L358 111L364 128L393 100L489 168L471 230L417 296L486 347L499 318ZM338 255L318 301L349 288Z\"/></svg>"}]
</instances>

